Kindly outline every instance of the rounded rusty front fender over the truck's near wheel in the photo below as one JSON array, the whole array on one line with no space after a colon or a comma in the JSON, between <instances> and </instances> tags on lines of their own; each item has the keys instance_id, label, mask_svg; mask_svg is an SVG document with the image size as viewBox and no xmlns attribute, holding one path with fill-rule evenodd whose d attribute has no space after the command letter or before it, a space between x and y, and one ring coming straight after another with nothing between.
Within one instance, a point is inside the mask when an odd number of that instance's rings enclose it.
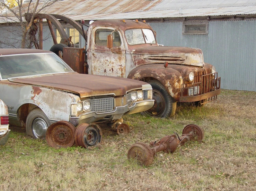
<instances>
[{"instance_id":1,"label":"rounded rusty front fender over the truck's near wheel","mask_svg":"<svg viewBox=\"0 0 256 191\"><path fill-rule=\"evenodd\" d=\"M159 65L159 67L157 66ZM171 97L179 100L181 95L181 88L183 84L182 75L170 67L164 68L162 64L155 64L152 67L140 66L134 68L127 78L141 80L150 77L160 81L170 93Z\"/></svg>"}]
</instances>

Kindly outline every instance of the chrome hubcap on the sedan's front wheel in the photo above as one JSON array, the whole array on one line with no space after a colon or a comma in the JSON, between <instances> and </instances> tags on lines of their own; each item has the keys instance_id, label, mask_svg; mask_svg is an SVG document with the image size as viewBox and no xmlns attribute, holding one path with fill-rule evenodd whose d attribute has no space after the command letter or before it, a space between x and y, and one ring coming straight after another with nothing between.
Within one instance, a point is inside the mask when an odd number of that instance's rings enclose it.
<instances>
[{"instance_id":1,"label":"chrome hubcap on the sedan's front wheel","mask_svg":"<svg viewBox=\"0 0 256 191\"><path fill-rule=\"evenodd\" d=\"M47 128L48 128L47 123L42 118L36 118L32 122L32 132L35 138L45 137Z\"/></svg>"}]
</instances>

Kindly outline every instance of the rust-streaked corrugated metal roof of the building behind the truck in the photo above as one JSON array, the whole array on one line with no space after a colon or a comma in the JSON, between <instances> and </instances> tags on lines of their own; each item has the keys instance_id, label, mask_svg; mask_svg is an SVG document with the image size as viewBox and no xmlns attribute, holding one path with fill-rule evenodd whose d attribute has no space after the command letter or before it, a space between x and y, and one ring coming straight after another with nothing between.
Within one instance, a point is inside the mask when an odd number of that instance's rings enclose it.
<instances>
[{"instance_id":1,"label":"rust-streaked corrugated metal roof of the building behind the truck","mask_svg":"<svg viewBox=\"0 0 256 191\"><path fill-rule=\"evenodd\" d=\"M256 14L256 0L63 0L41 12L74 20L224 16Z\"/></svg>"}]
</instances>

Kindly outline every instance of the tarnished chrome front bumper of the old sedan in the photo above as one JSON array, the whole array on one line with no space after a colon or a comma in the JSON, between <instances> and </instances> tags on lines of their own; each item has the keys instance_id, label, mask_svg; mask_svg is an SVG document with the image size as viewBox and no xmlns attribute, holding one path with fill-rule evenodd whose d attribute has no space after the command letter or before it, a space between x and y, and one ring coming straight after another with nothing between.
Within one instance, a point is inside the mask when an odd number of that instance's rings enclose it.
<instances>
[{"instance_id":1,"label":"tarnished chrome front bumper of the old sedan","mask_svg":"<svg viewBox=\"0 0 256 191\"><path fill-rule=\"evenodd\" d=\"M152 108L154 104L154 100L142 100L132 103L130 107L128 105L115 107L113 111L110 112L103 112L103 113L96 113L95 111L89 111L86 113L80 114L78 117L70 117L70 122L77 126L81 123L93 123L96 121L101 120L104 121L111 121L115 119L121 119L125 114L132 114L138 113L142 111L147 111L148 109Z\"/></svg>"}]
</instances>

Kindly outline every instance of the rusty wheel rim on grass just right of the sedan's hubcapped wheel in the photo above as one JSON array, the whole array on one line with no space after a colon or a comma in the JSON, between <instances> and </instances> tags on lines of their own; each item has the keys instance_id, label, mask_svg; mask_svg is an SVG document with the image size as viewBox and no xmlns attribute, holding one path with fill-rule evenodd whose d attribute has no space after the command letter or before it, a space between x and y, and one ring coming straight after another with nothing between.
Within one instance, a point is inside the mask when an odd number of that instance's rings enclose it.
<instances>
[{"instance_id":1,"label":"rusty wheel rim on grass just right of the sedan's hubcapped wheel","mask_svg":"<svg viewBox=\"0 0 256 191\"><path fill-rule=\"evenodd\" d=\"M75 127L68 121L58 121L51 124L47 131L45 139L50 147L67 148L74 145Z\"/></svg>"}]
</instances>

